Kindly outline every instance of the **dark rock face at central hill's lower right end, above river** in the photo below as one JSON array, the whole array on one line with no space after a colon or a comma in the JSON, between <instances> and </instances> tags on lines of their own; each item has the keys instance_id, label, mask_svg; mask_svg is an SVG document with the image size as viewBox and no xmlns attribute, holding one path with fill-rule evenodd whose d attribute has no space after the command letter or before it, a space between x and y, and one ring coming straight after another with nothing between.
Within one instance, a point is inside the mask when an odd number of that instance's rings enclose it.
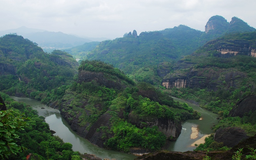
<instances>
[{"instance_id":1,"label":"dark rock face at central hill's lower right end, above river","mask_svg":"<svg viewBox=\"0 0 256 160\"><path fill-rule=\"evenodd\" d=\"M169 119L157 118L154 116L140 117L136 114L130 113L128 120L136 125L138 128L158 126L159 131L167 137L178 138L181 134L181 122L175 122Z\"/></svg>"}]
</instances>

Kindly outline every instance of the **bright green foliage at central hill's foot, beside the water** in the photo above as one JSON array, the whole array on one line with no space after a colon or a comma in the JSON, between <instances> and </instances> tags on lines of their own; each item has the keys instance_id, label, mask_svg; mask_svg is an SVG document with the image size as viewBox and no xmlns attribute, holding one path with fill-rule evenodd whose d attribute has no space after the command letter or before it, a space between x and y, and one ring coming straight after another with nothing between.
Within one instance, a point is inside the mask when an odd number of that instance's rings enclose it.
<instances>
[{"instance_id":1,"label":"bright green foliage at central hill's foot, beside the water","mask_svg":"<svg viewBox=\"0 0 256 160\"><path fill-rule=\"evenodd\" d=\"M160 150L165 144L166 137L158 132L158 128L139 129L127 121L120 120L115 123L114 137L108 139L105 144L108 148L129 152L131 147L141 147L151 151Z\"/></svg>"}]
</instances>

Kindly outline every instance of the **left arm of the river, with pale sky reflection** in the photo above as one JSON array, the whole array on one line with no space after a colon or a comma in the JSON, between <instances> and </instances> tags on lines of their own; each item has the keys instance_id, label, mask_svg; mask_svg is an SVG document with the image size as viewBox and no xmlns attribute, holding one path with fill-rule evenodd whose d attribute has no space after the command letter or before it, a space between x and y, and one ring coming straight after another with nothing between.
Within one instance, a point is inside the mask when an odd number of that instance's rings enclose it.
<instances>
[{"instance_id":1,"label":"left arm of the river, with pale sky reflection","mask_svg":"<svg viewBox=\"0 0 256 160\"><path fill-rule=\"evenodd\" d=\"M49 124L50 129L55 131L55 136L59 136L64 142L69 142L73 145L73 151L80 153L95 154L97 157L104 159L131 160L137 158L133 154L116 152L97 147L88 140L77 135L68 124L68 122L60 115L59 110L43 105L40 101L30 98L11 97L16 101L23 101L29 104L33 109L38 111L39 116L45 117L45 121ZM44 107L45 109L41 109Z\"/></svg>"}]
</instances>

